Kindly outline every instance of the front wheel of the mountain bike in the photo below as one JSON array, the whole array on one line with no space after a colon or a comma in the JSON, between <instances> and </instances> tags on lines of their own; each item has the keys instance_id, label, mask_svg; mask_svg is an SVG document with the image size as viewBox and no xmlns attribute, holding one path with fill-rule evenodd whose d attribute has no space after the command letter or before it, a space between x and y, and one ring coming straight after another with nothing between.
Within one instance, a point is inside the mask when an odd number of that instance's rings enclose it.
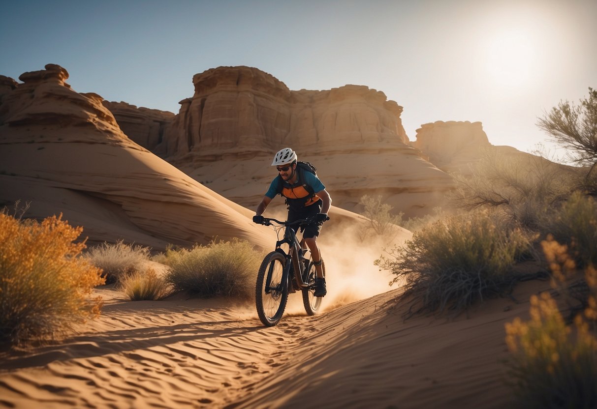
<instances>
[{"instance_id":1,"label":"front wheel of the mountain bike","mask_svg":"<svg viewBox=\"0 0 597 409\"><path fill-rule=\"evenodd\" d=\"M273 327L280 321L288 300L288 280L282 283L286 258L282 253L271 252L261 262L257 273L255 304L257 315L264 326Z\"/></svg>"}]
</instances>

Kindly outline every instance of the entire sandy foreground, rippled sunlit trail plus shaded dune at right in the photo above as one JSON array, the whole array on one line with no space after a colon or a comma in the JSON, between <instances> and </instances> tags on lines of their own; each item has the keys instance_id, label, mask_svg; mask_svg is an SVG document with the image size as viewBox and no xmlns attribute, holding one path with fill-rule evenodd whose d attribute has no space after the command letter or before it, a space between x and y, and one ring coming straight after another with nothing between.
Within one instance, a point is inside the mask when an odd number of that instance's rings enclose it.
<instances>
[{"instance_id":1,"label":"entire sandy foreground, rippled sunlit trail plus shaded dune at right","mask_svg":"<svg viewBox=\"0 0 597 409\"><path fill-rule=\"evenodd\" d=\"M230 300L106 305L75 336L2 352L0 407L9 408L504 408L504 323L528 317L531 281L515 298L466 314L401 318L400 289L315 317L290 296L278 326Z\"/></svg>"}]
</instances>

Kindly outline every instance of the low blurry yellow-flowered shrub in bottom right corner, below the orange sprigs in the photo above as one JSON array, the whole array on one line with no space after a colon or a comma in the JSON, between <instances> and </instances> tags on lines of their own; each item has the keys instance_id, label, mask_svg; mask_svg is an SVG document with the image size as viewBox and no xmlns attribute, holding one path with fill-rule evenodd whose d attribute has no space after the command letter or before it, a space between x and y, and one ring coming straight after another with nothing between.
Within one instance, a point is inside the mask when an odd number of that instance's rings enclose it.
<instances>
[{"instance_id":1,"label":"low blurry yellow-flowered shrub in bottom right corner, below the orange sprigs","mask_svg":"<svg viewBox=\"0 0 597 409\"><path fill-rule=\"evenodd\" d=\"M506 323L510 382L521 408L597 407L597 339L580 315L565 324L548 293L531 298L531 320Z\"/></svg>"}]
</instances>

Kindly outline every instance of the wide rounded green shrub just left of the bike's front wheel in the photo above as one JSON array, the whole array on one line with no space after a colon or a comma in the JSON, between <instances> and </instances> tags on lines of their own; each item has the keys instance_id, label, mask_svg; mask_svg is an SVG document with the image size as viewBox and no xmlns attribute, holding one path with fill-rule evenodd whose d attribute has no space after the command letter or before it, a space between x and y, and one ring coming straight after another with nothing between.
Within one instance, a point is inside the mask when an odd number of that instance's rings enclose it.
<instances>
[{"instance_id":1,"label":"wide rounded green shrub just left of the bike's front wheel","mask_svg":"<svg viewBox=\"0 0 597 409\"><path fill-rule=\"evenodd\" d=\"M227 296L248 299L254 294L261 256L242 240L220 241L190 250L168 250L166 281L176 291L202 298Z\"/></svg>"}]
</instances>

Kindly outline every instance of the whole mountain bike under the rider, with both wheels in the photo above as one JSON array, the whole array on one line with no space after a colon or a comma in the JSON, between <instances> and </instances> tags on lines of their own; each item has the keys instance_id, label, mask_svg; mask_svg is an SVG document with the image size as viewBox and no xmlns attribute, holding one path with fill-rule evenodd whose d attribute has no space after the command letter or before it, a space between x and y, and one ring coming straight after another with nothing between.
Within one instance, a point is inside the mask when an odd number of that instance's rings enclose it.
<instances>
[{"instance_id":1,"label":"whole mountain bike under the rider, with both wheels","mask_svg":"<svg viewBox=\"0 0 597 409\"><path fill-rule=\"evenodd\" d=\"M284 238L276 241L276 249L269 253L261 262L257 273L255 289L255 303L257 315L261 323L273 327L282 318L288 293L301 291L303 305L308 315L315 315L321 306L322 297L315 296L315 265L311 259L309 249L303 249L294 233L294 225L310 224L315 218L310 217L294 222L281 222L276 219L263 218L261 224L273 226L278 238L284 229ZM282 249L288 244L288 252ZM308 254L307 254L308 253ZM322 263L325 277L325 264Z\"/></svg>"}]
</instances>

